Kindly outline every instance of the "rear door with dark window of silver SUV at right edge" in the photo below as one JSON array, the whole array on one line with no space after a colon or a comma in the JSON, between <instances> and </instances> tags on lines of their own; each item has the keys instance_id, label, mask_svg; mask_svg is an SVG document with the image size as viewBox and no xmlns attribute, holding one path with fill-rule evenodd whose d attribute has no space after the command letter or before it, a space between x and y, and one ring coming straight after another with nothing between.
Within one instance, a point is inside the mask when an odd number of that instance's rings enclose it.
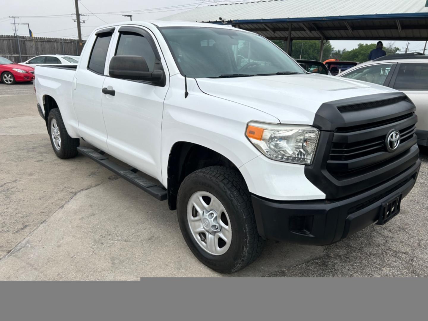
<instances>
[{"instance_id":1,"label":"rear door with dark window of silver SUV at right edge","mask_svg":"<svg viewBox=\"0 0 428 321\"><path fill-rule=\"evenodd\" d=\"M424 139L428 139L428 62L399 63L389 86L404 92L416 105L416 127L426 131Z\"/></svg>"}]
</instances>

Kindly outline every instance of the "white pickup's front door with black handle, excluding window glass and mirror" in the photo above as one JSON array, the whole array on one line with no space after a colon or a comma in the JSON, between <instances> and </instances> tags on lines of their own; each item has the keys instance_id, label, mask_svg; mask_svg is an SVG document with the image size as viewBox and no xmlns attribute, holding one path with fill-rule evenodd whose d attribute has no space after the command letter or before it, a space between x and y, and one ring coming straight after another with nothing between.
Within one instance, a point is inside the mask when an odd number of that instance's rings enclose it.
<instances>
[{"instance_id":1,"label":"white pickup's front door with black handle, excluding window glass and mirror","mask_svg":"<svg viewBox=\"0 0 428 321\"><path fill-rule=\"evenodd\" d=\"M163 68L166 85L106 78L104 87L115 90L114 96L102 95L109 153L160 179L160 131L163 101L169 85L165 59L161 59L156 40L144 27L120 27L114 42L110 58L116 55L142 56L149 71Z\"/></svg>"}]
</instances>

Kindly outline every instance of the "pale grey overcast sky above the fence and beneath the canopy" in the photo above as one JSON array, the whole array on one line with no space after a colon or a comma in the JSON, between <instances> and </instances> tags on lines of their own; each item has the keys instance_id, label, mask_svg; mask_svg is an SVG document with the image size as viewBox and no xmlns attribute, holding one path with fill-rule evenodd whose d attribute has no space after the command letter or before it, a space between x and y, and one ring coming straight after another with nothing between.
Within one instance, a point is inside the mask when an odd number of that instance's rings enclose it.
<instances>
[{"instance_id":1,"label":"pale grey overcast sky above the fence and beneath the canopy","mask_svg":"<svg viewBox=\"0 0 428 321\"><path fill-rule=\"evenodd\" d=\"M81 14L91 14L83 17L82 38L86 39L95 27L106 23L128 20L122 17L130 11L145 10L144 12L131 12L133 20L156 20L185 10L204 6L210 0L81 0L79 10ZM215 1L212 1L213 3ZM356 0L356 4L358 0ZM86 7L86 8L85 8ZM13 22L8 16L18 16L17 23L28 23L34 36L77 38L76 23L72 14L75 13L74 0L0 0L0 35L13 34ZM113 13L108 13L113 12ZM122 13L118 13L122 12ZM98 14L104 13L104 14ZM34 17L56 15L57 17ZM27 25L17 25L18 35L28 36ZM382 40L382 39L379 39ZM332 41L335 49L348 50L357 47L363 41ZM390 41L384 41L386 45ZM367 41L363 43L372 43ZM425 42L412 41L409 50L422 51ZM395 46L405 49L405 41L395 42Z\"/></svg>"}]
</instances>

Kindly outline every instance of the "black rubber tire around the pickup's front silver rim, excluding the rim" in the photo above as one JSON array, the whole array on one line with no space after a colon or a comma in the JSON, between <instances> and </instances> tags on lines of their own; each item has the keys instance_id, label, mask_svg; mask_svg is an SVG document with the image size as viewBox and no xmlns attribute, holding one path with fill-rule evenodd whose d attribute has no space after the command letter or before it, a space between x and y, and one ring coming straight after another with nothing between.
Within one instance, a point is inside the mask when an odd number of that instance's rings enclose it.
<instances>
[{"instance_id":1,"label":"black rubber tire around the pickup's front silver rim, excluding the rim","mask_svg":"<svg viewBox=\"0 0 428 321\"><path fill-rule=\"evenodd\" d=\"M220 200L229 215L232 241L222 255L212 255L195 240L187 220L187 203L193 193L206 191ZM220 273L232 273L254 262L262 253L264 240L257 232L251 195L238 170L210 166L189 174L177 196L178 223L184 240L203 264Z\"/></svg>"}]
</instances>

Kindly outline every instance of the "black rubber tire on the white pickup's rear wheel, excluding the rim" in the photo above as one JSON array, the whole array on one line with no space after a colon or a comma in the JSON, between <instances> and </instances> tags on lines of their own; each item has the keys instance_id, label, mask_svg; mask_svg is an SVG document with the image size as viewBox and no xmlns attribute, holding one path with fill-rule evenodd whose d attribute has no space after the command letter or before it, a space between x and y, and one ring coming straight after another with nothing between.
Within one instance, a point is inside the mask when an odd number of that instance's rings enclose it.
<instances>
[{"instance_id":1,"label":"black rubber tire on the white pickup's rear wheel, excluding the rim","mask_svg":"<svg viewBox=\"0 0 428 321\"><path fill-rule=\"evenodd\" d=\"M59 129L59 137L61 138L61 144L59 149L56 148L52 137L52 121L55 119L56 125ZM80 145L78 138L71 138L67 130L65 129L64 122L62 121L61 113L58 108L53 108L48 116L48 133L51 139L52 149L56 156L62 159L73 158L77 155L77 147Z\"/></svg>"}]
</instances>

